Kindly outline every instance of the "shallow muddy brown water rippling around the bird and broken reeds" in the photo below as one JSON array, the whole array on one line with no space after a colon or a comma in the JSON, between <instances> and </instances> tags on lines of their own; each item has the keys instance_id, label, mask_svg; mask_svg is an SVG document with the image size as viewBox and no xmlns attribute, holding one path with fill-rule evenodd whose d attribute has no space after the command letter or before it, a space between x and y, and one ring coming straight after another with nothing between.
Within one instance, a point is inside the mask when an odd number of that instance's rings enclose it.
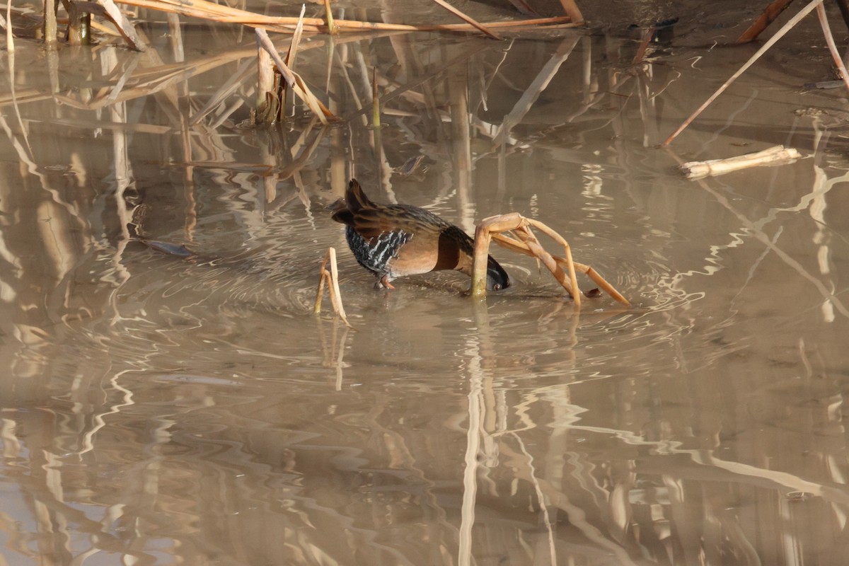
<instances>
[{"instance_id":1,"label":"shallow muddy brown water rippling around the bird and broken reeds","mask_svg":"<svg viewBox=\"0 0 849 566\"><path fill-rule=\"evenodd\" d=\"M0 563L844 563L846 95L801 89L815 28L670 149L754 48L319 38L298 69L345 120L256 128L251 36L148 31L160 60L20 41L17 111L3 74ZM777 143L804 159L676 170ZM503 249L486 301L375 291L324 210L351 175L543 221L633 305L576 312ZM351 329L312 314L328 246Z\"/></svg>"}]
</instances>

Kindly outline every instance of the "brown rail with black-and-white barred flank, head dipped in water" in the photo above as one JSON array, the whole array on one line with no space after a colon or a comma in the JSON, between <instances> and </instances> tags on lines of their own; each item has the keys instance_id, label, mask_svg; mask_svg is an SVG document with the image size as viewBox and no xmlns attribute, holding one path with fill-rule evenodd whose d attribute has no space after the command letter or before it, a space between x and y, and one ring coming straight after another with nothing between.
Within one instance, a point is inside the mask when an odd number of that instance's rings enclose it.
<instances>
[{"instance_id":1,"label":"brown rail with black-and-white barred flank, head dipped in water","mask_svg":"<svg viewBox=\"0 0 849 566\"><path fill-rule=\"evenodd\" d=\"M412 205L383 205L368 199L357 179L345 198L329 205L330 217L345 224L345 237L357 263L377 277L374 289L395 289L397 277L453 269L469 277L475 241L430 210ZM486 259L486 289L510 286L510 277Z\"/></svg>"}]
</instances>

